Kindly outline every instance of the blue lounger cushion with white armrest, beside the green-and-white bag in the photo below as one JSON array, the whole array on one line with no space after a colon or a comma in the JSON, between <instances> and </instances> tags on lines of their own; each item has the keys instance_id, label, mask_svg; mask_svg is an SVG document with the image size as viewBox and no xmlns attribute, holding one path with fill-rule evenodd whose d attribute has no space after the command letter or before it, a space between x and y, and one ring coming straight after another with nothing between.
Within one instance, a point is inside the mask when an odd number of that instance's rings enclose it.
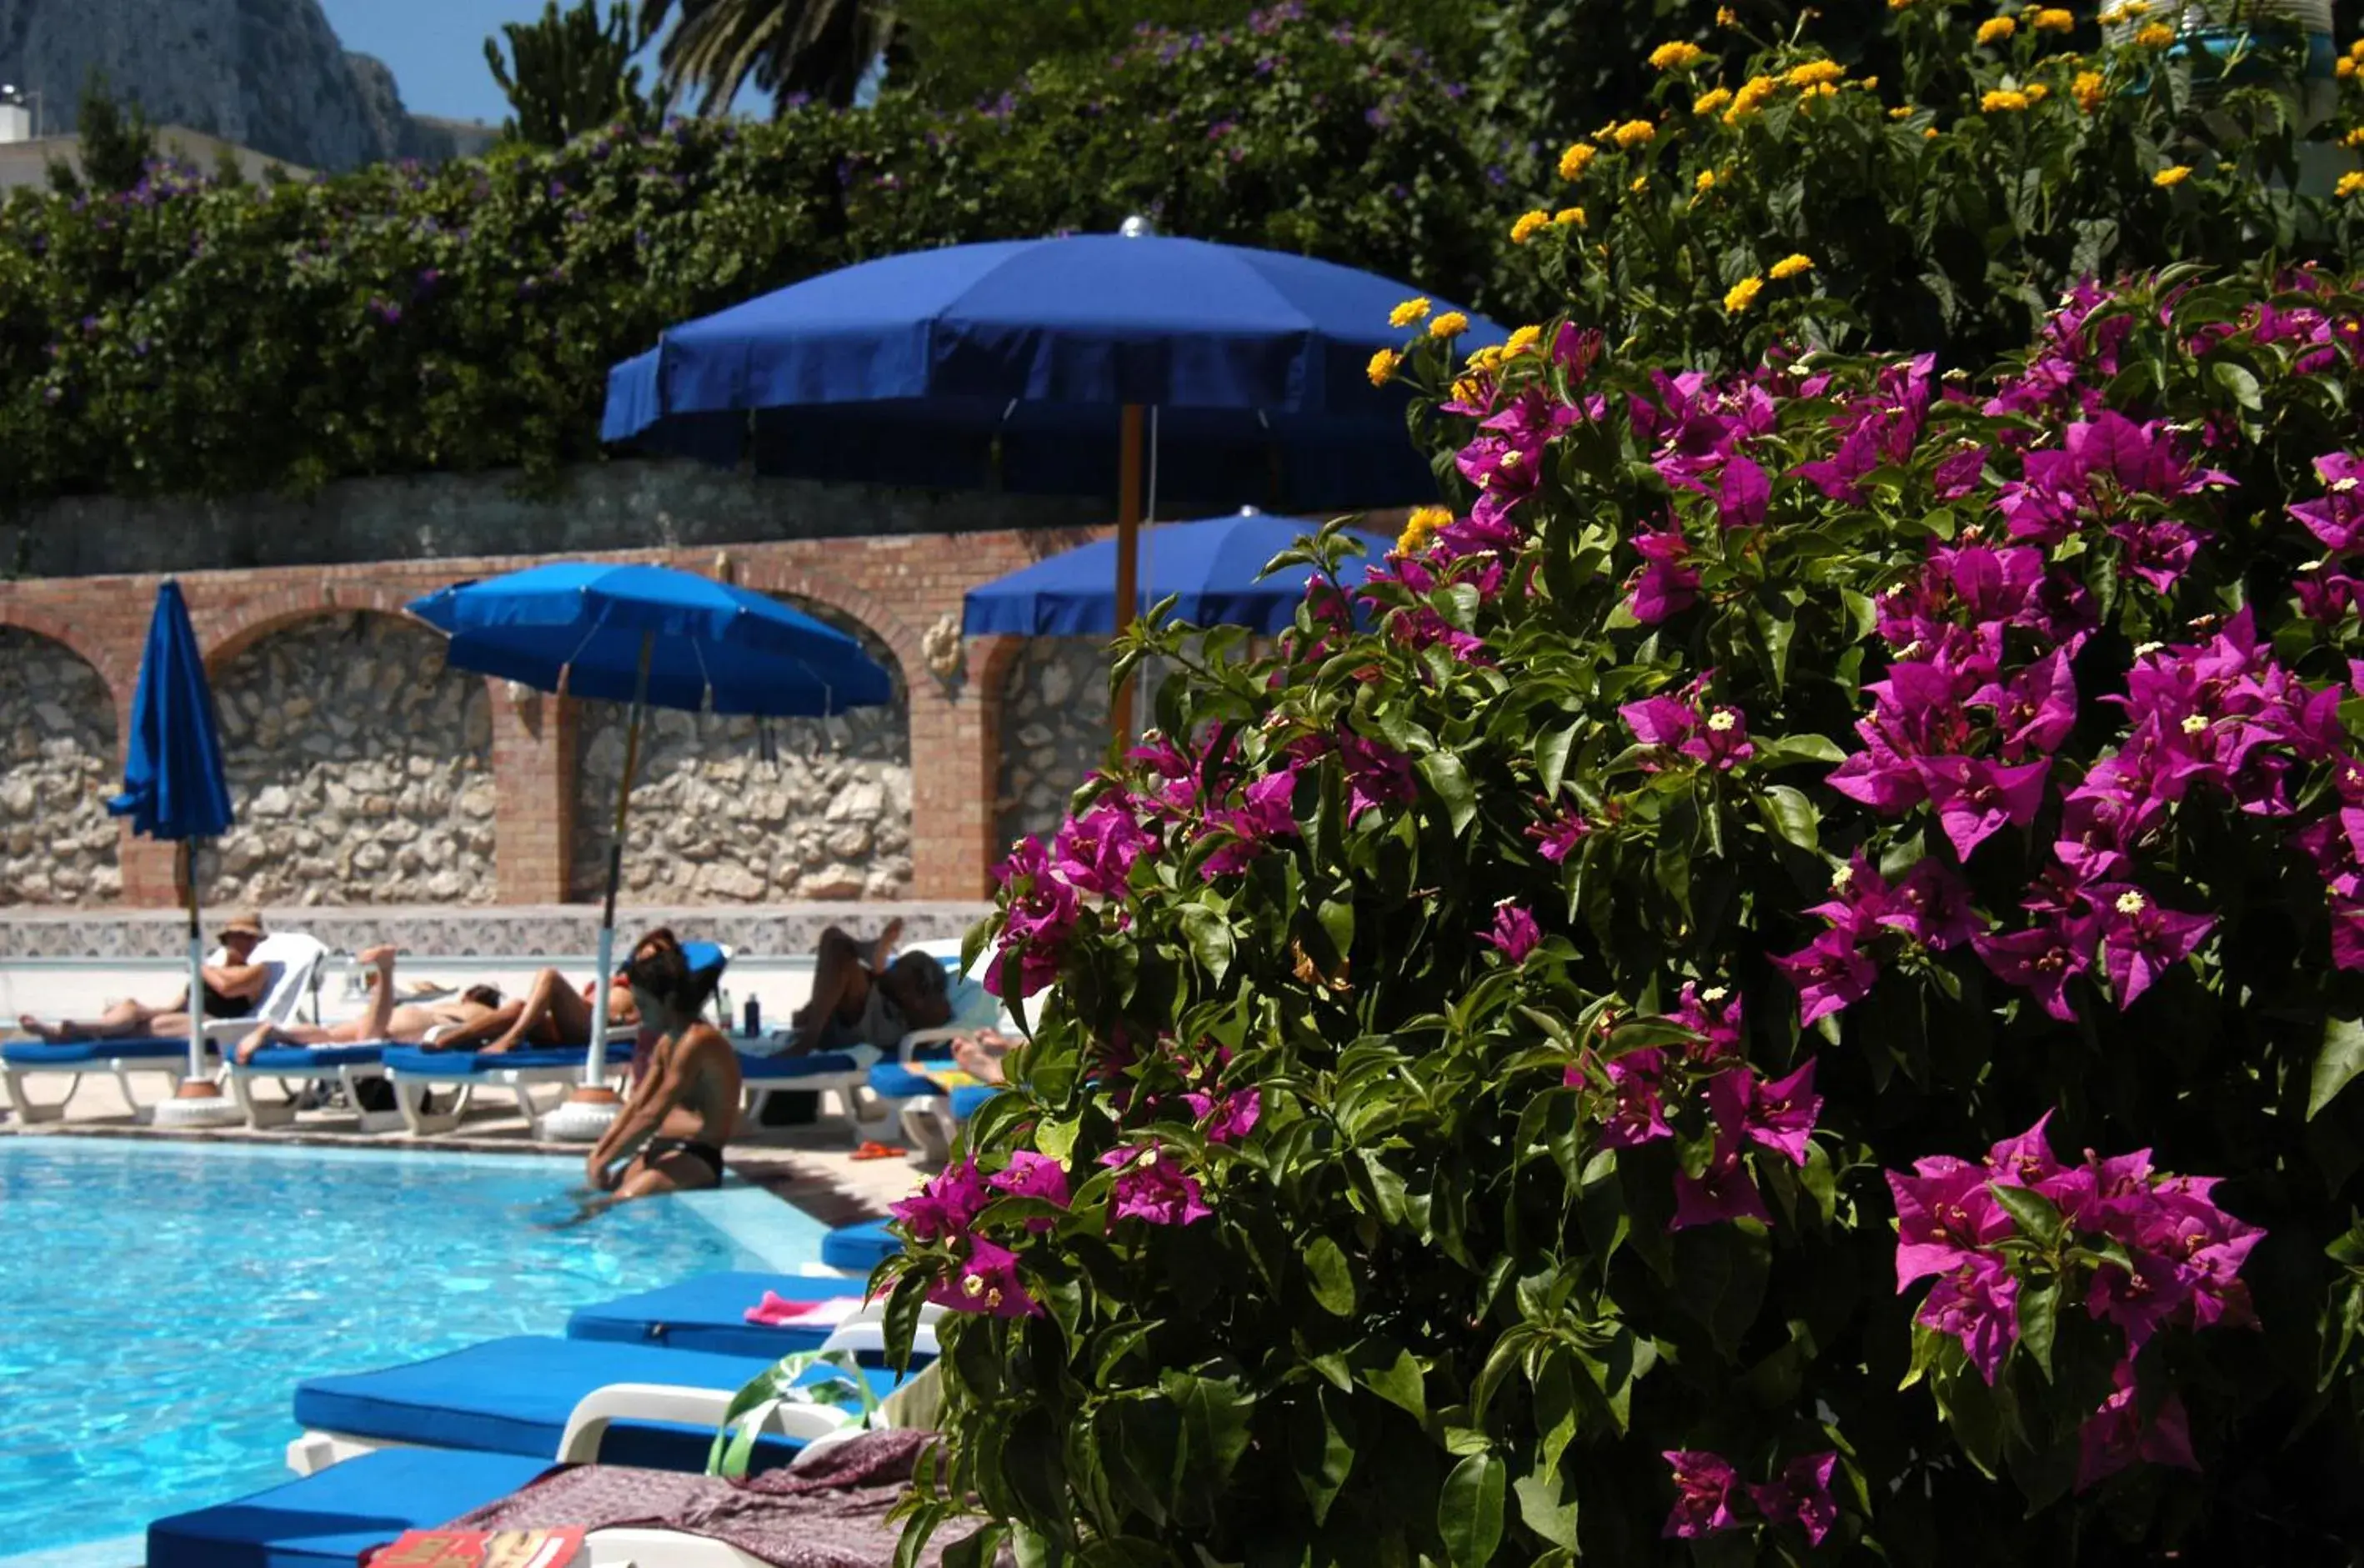
<instances>
[{"instance_id":1,"label":"blue lounger cushion with white armrest, beside the green-and-white bag","mask_svg":"<svg viewBox=\"0 0 2364 1568\"><path fill-rule=\"evenodd\" d=\"M296 1386L296 1419L312 1431L383 1443L548 1457L558 1452L567 1414L593 1388L683 1384L735 1391L775 1360L586 1339L492 1339L407 1367L307 1379ZM894 1376L879 1376L884 1398ZM704 1426L617 1424L600 1443L600 1459L702 1469L712 1440L714 1431ZM780 1440L759 1445L773 1462L787 1462L794 1450Z\"/></svg>"}]
</instances>

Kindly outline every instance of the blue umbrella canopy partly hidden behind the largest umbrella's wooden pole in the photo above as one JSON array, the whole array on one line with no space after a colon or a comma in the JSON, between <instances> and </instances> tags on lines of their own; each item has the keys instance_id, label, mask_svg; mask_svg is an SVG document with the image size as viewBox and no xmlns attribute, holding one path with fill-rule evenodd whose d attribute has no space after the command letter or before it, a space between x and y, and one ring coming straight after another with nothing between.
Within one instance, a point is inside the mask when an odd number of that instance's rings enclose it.
<instances>
[{"instance_id":1,"label":"blue umbrella canopy partly hidden behind the largest umbrella's wooden pole","mask_svg":"<svg viewBox=\"0 0 2364 1568\"><path fill-rule=\"evenodd\" d=\"M1314 532L1298 518L1241 513L1203 523L1163 523L1147 534L1137 615L1177 596L1175 620L1194 627L1248 627L1286 631L1310 565L1288 565L1265 577L1265 563ZM1362 549L1338 570L1338 587L1355 589L1392 546L1378 534L1350 534ZM1019 636L1113 636L1116 634L1116 539L1099 539L1026 570L969 589L960 629L967 636L995 631Z\"/></svg>"}]
</instances>

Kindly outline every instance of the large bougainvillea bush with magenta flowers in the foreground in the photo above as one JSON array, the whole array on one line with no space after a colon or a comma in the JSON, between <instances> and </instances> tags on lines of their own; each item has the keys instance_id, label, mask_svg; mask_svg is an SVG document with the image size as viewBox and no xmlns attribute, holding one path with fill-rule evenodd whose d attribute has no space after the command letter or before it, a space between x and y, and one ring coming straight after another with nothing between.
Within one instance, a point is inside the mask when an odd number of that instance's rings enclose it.
<instances>
[{"instance_id":1,"label":"large bougainvillea bush with magenta flowers in the foreground","mask_svg":"<svg viewBox=\"0 0 2364 1568\"><path fill-rule=\"evenodd\" d=\"M2080 286L1986 378L1399 317L1468 504L1002 868L917 1523L2343 1561L2364 296Z\"/></svg>"}]
</instances>

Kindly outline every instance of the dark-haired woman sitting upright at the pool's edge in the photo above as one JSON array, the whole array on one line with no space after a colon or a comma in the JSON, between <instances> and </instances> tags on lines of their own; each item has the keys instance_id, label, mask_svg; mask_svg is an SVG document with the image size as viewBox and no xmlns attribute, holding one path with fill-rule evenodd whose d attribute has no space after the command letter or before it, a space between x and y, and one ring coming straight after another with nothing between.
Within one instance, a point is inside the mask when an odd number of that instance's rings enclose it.
<instances>
[{"instance_id":1,"label":"dark-haired woman sitting upright at the pool's edge","mask_svg":"<svg viewBox=\"0 0 2364 1568\"><path fill-rule=\"evenodd\" d=\"M719 979L721 970L690 970L671 937L634 948L624 981L655 1045L622 1114L584 1161L593 1192L608 1197L586 1204L579 1218L636 1197L721 1185L740 1071L730 1041L702 1017Z\"/></svg>"}]
</instances>

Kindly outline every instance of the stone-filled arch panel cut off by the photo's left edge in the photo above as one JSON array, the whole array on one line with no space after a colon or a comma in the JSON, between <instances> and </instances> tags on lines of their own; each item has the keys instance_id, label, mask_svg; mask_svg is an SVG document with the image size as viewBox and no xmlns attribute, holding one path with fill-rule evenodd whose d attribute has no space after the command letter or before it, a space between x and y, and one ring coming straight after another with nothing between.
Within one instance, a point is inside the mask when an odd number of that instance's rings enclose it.
<instances>
[{"instance_id":1,"label":"stone-filled arch panel cut off by the photo's left edge","mask_svg":"<svg viewBox=\"0 0 2364 1568\"><path fill-rule=\"evenodd\" d=\"M0 627L0 903L111 903L121 892L116 705L71 648Z\"/></svg>"}]
</instances>

